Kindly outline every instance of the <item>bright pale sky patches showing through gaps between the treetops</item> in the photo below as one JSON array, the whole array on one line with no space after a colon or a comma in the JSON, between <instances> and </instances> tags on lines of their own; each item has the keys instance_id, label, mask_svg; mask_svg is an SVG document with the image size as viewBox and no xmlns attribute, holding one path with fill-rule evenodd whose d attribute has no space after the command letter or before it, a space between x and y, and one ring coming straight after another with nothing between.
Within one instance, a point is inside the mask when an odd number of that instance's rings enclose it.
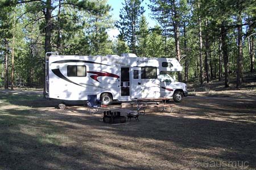
<instances>
[{"instance_id":1,"label":"bright pale sky patches showing through gaps between the treetops","mask_svg":"<svg viewBox=\"0 0 256 170\"><path fill-rule=\"evenodd\" d=\"M112 14L112 18L114 20L119 20L119 14L120 14L120 10L123 8L122 6L122 2L124 3L124 0L108 0L108 4L112 7L112 11L110 12L110 14ZM144 7L144 16L146 16L147 22L148 22L148 27L154 27L156 25L155 20L151 19L152 15L151 15L151 11L148 8L148 4L150 3L149 0L144 0L142 2L142 6ZM113 29L109 29L108 31L108 35L110 37L110 39L115 39L117 37L117 35L119 34L119 31L117 28L113 28Z\"/></svg>"}]
</instances>

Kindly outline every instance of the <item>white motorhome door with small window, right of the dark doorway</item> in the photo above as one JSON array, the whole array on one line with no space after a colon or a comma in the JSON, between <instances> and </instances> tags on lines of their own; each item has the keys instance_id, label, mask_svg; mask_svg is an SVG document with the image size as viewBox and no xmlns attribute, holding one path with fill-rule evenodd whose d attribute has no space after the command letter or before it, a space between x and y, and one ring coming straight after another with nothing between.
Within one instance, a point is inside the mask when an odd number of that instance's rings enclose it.
<instances>
[{"instance_id":1,"label":"white motorhome door with small window, right of the dark doorway","mask_svg":"<svg viewBox=\"0 0 256 170\"><path fill-rule=\"evenodd\" d=\"M141 98L141 67L131 67L131 99Z\"/></svg>"}]
</instances>

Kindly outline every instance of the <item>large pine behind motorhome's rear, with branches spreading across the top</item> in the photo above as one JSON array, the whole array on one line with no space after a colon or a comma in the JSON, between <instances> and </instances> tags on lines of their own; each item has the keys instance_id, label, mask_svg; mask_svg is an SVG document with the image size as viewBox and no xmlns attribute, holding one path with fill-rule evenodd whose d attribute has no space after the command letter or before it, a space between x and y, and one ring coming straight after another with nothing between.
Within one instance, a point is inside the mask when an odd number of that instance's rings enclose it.
<instances>
[{"instance_id":1,"label":"large pine behind motorhome's rear, with branches spreading across the top","mask_svg":"<svg viewBox=\"0 0 256 170\"><path fill-rule=\"evenodd\" d=\"M108 5L103 5L102 3L97 3L93 1L60 1L60 0L46 0L46 1L38 1L38 0L31 0L31 1L2 1L0 6L8 7L8 6L15 6L18 4L26 4L27 5L27 12L31 12L34 14L42 13L42 15L38 15L38 17L34 20L31 20L30 23L34 23L38 20L44 21L44 52L51 52L51 39L52 39L52 32L54 29L53 18L57 17L53 15L53 10L57 7L62 6L70 6L73 8L79 8L80 10L85 10L92 12L94 14L105 14L106 11L110 10ZM45 67L45 65L44 65ZM45 70L45 68L44 68ZM44 86L45 87L45 86ZM44 89L44 96L46 95L46 91Z\"/></svg>"}]
</instances>

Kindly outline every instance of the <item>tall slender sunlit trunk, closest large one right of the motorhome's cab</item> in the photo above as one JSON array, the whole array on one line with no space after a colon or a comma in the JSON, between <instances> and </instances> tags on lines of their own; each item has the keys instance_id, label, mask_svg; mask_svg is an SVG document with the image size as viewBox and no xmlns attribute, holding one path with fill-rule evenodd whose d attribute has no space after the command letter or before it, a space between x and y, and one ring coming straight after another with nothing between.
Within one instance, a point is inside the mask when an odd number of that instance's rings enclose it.
<instances>
[{"instance_id":1,"label":"tall slender sunlit trunk, closest large one right of the motorhome's cab","mask_svg":"<svg viewBox=\"0 0 256 170\"><path fill-rule=\"evenodd\" d=\"M200 2L198 3L198 10L200 11ZM204 83L204 78L203 78L203 54L202 54L202 49L203 49L203 40L202 40L202 28L201 28L201 16L198 18L198 23L199 23L199 60L200 60L200 84L202 85Z\"/></svg>"}]
</instances>

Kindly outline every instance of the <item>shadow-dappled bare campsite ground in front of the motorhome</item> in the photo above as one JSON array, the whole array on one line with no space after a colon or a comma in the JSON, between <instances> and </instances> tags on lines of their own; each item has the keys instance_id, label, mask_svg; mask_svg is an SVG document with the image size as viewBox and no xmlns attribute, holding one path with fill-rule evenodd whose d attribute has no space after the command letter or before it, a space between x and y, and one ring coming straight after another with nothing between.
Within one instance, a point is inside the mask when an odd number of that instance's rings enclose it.
<instances>
[{"instance_id":1,"label":"shadow-dappled bare campsite ground in front of the motorhome","mask_svg":"<svg viewBox=\"0 0 256 170\"><path fill-rule=\"evenodd\" d=\"M256 168L255 97L191 96L173 113L109 125L40 91L0 94L1 170Z\"/></svg>"}]
</instances>

